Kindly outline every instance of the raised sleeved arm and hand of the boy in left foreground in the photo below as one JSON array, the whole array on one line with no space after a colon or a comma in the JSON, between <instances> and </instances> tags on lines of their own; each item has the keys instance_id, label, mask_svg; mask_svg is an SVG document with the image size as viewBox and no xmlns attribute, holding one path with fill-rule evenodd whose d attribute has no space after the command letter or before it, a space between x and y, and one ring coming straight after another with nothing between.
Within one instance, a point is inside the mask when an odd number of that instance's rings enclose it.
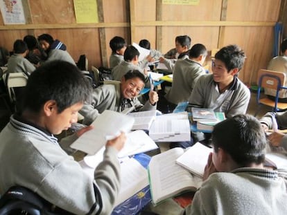
<instances>
[{"instance_id":1,"label":"raised sleeved arm and hand of the boy in left foreground","mask_svg":"<svg viewBox=\"0 0 287 215\"><path fill-rule=\"evenodd\" d=\"M107 147L94 179L71 157L62 158L42 180L36 191L46 200L73 214L110 214L120 187L116 149ZM96 188L95 188L96 187Z\"/></svg>"}]
</instances>

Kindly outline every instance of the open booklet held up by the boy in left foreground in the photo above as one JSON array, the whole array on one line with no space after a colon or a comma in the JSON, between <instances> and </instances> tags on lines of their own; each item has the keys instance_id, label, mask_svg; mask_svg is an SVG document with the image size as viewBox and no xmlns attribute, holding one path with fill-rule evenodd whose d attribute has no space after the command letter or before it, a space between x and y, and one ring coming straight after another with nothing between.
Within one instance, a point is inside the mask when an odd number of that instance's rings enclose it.
<instances>
[{"instance_id":1,"label":"open booklet held up by the boy in left foreground","mask_svg":"<svg viewBox=\"0 0 287 215\"><path fill-rule=\"evenodd\" d=\"M119 135L121 132L128 133L132 129L134 118L123 113L105 110L92 123L94 129L83 133L71 148L95 154L107 142Z\"/></svg>"}]
</instances>

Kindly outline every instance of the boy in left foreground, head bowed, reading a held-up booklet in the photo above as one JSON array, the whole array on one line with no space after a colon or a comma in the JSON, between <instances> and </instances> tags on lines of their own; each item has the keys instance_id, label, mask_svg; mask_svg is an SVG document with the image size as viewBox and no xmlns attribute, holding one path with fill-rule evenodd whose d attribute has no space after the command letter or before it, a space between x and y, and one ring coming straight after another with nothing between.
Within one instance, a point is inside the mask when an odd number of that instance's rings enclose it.
<instances>
[{"instance_id":1,"label":"boy in left foreground, head bowed, reading a held-up booklet","mask_svg":"<svg viewBox=\"0 0 287 215\"><path fill-rule=\"evenodd\" d=\"M56 209L73 214L110 214L120 188L117 153L125 135L107 141L103 162L91 179L65 153L54 134L69 129L90 95L78 68L54 61L29 77L19 113L1 131L0 195L18 185L31 189ZM84 133L92 127L78 131ZM96 144L96 140L95 140Z\"/></svg>"}]
</instances>

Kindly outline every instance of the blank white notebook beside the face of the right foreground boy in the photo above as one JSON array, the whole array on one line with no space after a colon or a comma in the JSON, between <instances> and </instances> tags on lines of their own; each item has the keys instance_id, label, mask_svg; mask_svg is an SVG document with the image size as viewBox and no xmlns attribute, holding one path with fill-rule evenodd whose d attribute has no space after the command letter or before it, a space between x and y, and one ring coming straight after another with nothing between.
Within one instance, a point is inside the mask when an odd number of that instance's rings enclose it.
<instances>
[{"instance_id":1,"label":"blank white notebook beside the face of the right foreground boy","mask_svg":"<svg viewBox=\"0 0 287 215\"><path fill-rule=\"evenodd\" d=\"M213 149L206 147L200 142L196 142L192 147L187 149L180 158L177 158L176 162L192 174L202 178L209 153L212 151Z\"/></svg>"}]
</instances>

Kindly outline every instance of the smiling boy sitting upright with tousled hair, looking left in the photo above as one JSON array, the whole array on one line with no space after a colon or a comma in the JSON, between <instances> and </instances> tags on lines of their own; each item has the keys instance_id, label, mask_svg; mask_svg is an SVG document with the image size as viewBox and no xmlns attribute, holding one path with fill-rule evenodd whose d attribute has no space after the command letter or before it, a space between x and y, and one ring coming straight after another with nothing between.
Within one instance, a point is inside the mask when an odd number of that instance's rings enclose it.
<instances>
[{"instance_id":1,"label":"smiling boy sitting upright with tousled hair, looking left","mask_svg":"<svg viewBox=\"0 0 287 215\"><path fill-rule=\"evenodd\" d=\"M237 77L244 61L244 52L238 46L221 48L215 55L212 74L202 75L195 84L189 105L224 112L227 118L246 113L250 91Z\"/></svg>"}]
</instances>

